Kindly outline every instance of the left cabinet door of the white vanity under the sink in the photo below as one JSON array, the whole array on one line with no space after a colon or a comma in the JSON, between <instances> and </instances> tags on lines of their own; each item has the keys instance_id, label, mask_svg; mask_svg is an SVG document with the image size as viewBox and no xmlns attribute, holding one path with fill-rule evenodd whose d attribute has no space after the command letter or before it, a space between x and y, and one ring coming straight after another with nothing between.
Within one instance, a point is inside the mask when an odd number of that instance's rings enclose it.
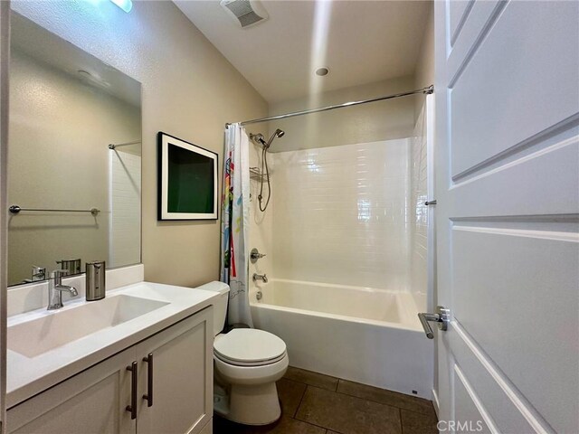
<instances>
[{"instance_id":1,"label":"left cabinet door of the white vanity under the sink","mask_svg":"<svg viewBox=\"0 0 579 434\"><path fill-rule=\"evenodd\" d=\"M130 373L135 360L129 348L65 382L9 409L7 432L14 434L134 433Z\"/></svg>"}]
</instances>

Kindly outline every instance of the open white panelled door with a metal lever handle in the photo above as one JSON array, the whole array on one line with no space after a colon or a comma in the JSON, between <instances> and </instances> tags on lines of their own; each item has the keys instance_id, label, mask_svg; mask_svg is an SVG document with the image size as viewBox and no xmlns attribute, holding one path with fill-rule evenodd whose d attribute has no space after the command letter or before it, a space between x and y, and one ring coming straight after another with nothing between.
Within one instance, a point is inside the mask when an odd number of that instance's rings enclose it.
<instances>
[{"instance_id":1,"label":"open white panelled door with a metal lever handle","mask_svg":"<svg viewBox=\"0 0 579 434\"><path fill-rule=\"evenodd\" d=\"M579 2L444 0L435 29L439 429L576 434Z\"/></svg>"}]
</instances>

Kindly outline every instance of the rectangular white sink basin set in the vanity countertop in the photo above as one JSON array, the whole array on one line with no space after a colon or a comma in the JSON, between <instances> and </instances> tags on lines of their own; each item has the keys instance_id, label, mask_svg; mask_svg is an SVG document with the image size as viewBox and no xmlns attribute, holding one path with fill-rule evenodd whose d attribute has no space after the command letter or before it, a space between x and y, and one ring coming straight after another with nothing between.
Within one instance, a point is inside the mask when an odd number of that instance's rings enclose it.
<instances>
[{"instance_id":1,"label":"rectangular white sink basin set in the vanity countertop","mask_svg":"<svg viewBox=\"0 0 579 434\"><path fill-rule=\"evenodd\" d=\"M7 346L9 350L26 357L35 357L167 304L164 301L119 294L78 307L47 311L40 318L8 326Z\"/></svg>"}]
</instances>

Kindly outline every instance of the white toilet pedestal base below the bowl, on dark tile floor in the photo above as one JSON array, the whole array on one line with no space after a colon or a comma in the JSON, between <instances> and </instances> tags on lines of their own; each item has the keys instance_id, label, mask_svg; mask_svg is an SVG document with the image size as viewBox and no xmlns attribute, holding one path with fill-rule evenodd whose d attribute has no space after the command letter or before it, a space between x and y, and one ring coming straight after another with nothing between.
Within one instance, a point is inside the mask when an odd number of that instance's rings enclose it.
<instances>
[{"instance_id":1,"label":"white toilet pedestal base below the bowl, on dark tile floor","mask_svg":"<svg viewBox=\"0 0 579 434\"><path fill-rule=\"evenodd\" d=\"M232 384L228 398L228 406L215 405L214 409L227 420L244 425L268 425L280 419L280 400L275 382L251 386Z\"/></svg>"}]
</instances>

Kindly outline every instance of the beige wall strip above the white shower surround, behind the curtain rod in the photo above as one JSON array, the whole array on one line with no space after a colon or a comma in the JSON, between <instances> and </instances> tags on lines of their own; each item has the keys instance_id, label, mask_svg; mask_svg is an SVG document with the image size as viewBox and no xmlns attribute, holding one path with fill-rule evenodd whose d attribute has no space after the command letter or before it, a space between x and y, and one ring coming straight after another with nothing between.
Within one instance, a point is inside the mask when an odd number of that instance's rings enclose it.
<instances>
[{"instance_id":1,"label":"beige wall strip above the white shower surround, behind the curtain rod","mask_svg":"<svg viewBox=\"0 0 579 434\"><path fill-rule=\"evenodd\" d=\"M372 99L413 90L413 77L384 80L322 93L313 99L300 98L270 105L270 116L313 109L347 101ZM414 100L405 97L269 122L270 131L281 128L284 137L276 139L271 152L367 143L410 137L414 126ZM262 125L262 124L258 124ZM253 127L253 126L252 126Z\"/></svg>"}]
</instances>

